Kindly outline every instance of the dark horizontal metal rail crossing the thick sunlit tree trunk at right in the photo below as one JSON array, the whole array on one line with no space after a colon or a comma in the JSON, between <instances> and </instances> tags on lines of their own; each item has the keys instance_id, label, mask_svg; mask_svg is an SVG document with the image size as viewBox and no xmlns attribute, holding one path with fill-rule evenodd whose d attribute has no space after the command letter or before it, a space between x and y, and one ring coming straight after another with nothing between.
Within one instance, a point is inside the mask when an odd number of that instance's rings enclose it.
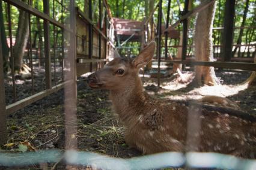
<instances>
[{"instance_id":1,"label":"dark horizontal metal rail crossing the thick sunlit tree trunk at right","mask_svg":"<svg viewBox=\"0 0 256 170\"><path fill-rule=\"evenodd\" d=\"M248 71L256 71L256 63L244 63L244 62L201 62L201 61L187 61L187 60L165 60L170 63L182 63L187 65L201 65L201 66L214 66L217 68L230 68L230 69L242 69Z\"/></svg>"}]
</instances>

